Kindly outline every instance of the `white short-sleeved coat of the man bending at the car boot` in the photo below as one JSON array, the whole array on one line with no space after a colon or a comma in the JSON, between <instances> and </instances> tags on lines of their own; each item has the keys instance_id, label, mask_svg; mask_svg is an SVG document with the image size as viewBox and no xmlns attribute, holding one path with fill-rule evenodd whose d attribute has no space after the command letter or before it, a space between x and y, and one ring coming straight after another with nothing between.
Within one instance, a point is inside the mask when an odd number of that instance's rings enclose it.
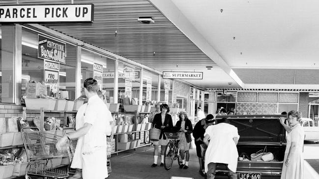
<instances>
[{"instance_id":1,"label":"white short-sleeved coat of the man bending at the car boot","mask_svg":"<svg viewBox=\"0 0 319 179\"><path fill-rule=\"evenodd\" d=\"M209 163L226 163L228 168L236 172L238 152L233 137L239 139L236 127L220 123L206 128L204 136L209 135L209 145L205 153L205 171Z\"/></svg>"}]
</instances>

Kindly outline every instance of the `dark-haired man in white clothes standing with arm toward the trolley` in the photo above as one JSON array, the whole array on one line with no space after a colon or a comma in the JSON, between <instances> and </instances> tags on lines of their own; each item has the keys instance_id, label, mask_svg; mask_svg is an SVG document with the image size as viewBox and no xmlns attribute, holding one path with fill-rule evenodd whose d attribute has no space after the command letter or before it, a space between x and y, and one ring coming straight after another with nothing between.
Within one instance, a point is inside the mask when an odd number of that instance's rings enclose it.
<instances>
[{"instance_id":1,"label":"dark-haired man in white clothes standing with arm toward the trolley","mask_svg":"<svg viewBox=\"0 0 319 179\"><path fill-rule=\"evenodd\" d=\"M84 125L74 133L68 134L59 140L58 146L67 139L83 138L82 147L82 178L105 179L107 172L107 135L111 134L110 111L106 104L98 97L97 81L87 78L84 81L85 93L88 98L87 109L84 113Z\"/></svg>"}]
</instances>

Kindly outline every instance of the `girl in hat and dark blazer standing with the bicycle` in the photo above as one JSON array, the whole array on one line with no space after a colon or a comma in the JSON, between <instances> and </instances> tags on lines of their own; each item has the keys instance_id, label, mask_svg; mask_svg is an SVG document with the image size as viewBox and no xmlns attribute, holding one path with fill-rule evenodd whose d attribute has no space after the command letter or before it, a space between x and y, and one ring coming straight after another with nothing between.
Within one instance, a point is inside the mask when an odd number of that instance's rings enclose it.
<instances>
[{"instance_id":1,"label":"girl in hat and dark blazer standing with the bicycle","mask_svg":"<svg viewBox=\"0 0 319 179\"><path fill-rule=\"evenodd\" d=\"M180 169L188 169L188 161L189 161L189 149L191 149L192 137L191 133L193 132L192 122L188 119L186 112L181 111L179 112L179 121L176 123L176 127L180 127L182 129L182 134L178 143L178 147L180 150L180 155L182 157L183 163L179 166ZM188 135L188 140L186 136ZM185 161L185 154L186 153L186 161Z\"/></svg>"}]
</instances>

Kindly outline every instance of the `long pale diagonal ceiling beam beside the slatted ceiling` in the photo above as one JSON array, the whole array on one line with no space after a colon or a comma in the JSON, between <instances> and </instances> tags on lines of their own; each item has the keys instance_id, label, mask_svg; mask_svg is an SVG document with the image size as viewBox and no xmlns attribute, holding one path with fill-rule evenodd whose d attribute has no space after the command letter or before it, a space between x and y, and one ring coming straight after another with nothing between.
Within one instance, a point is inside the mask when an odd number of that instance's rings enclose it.
<instances>
[{"instance_id":1,"label":"long pale diagonal ceiling beam beside the slatted ceiling","mask_svg":"<svg viewBox=\"0 0 319 179\"><path fill-rule=\"evenodd\" d=\"M171 0L149 0L167 19L169 19L182 33L185 34L199 49L201 49L212 61L223 69L240 86L244 87L241 79L232 71L231 67L218 54L218 52L206 41L201 32L184 16Z\"/></svg>"}]
</instances>

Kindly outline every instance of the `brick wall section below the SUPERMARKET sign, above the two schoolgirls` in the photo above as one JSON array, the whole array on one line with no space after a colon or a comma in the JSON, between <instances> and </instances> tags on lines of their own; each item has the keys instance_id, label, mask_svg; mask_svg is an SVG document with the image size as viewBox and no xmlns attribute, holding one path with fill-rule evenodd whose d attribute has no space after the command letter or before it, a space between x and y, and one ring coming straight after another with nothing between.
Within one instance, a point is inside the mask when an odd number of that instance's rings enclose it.
<instances>
[{"instance_id":1,"label":"brick wall section below the SUPERMARKET sign, above the two schoolgirls","mask_svg":"<svg viewBox=\"0 0 319 179\"><path fill-rule=\"evenodd\" d=\"M178 80L174 80L174 93L173 98L176 99L176 97L182 97L184 98L184 106L179 106L180 108L186 107L185 110L189 112L189 85L187 83L183 83ZM180 104L181 105L181 104Z\"/></svg>"}]
</instances>

